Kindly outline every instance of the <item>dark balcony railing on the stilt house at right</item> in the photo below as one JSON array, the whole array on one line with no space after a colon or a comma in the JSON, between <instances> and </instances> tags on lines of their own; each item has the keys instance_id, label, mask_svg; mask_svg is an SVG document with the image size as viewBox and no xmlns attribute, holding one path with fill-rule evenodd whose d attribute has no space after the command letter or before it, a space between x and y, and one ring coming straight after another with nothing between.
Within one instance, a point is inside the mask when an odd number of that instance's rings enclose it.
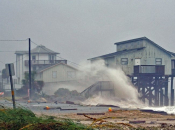
<instances>
[{"instance_id":1,"label":"dark balcony railing on the stilt house at right","mask_svg":"<svg viewBox=\"0 0 175 130\"><path fill-rule=\"evenodd\" d=\"M134 66L134 75L164 75L164 65L138 65Z\"/></svg>"}]
</instances>

